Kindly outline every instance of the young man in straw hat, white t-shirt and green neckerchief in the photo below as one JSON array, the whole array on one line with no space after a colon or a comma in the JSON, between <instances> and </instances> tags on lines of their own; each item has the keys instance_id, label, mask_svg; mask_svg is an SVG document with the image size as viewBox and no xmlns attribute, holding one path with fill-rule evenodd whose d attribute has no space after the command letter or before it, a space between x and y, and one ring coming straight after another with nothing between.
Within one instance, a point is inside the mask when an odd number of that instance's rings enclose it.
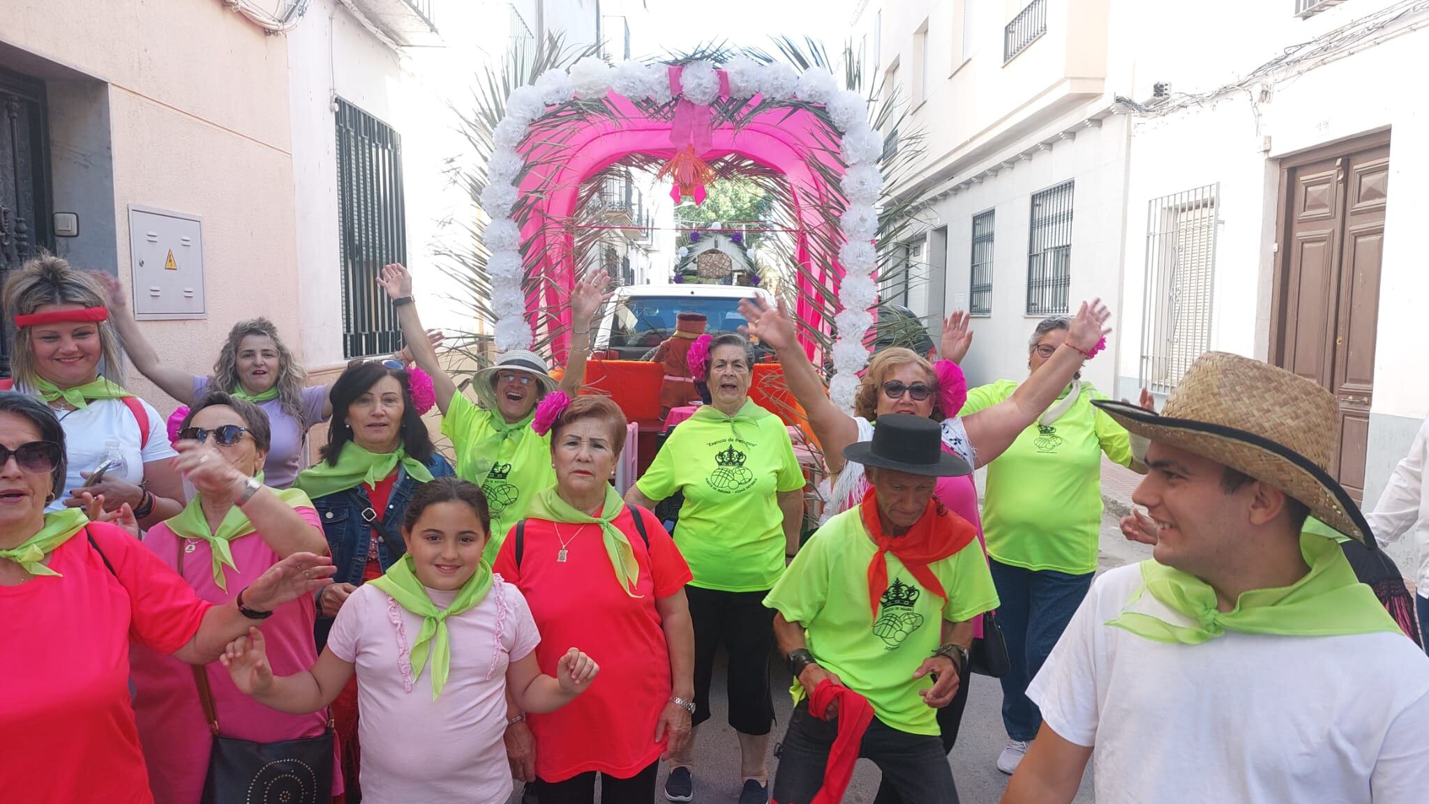
<instances>
[{"instance_id":1,"label":"young man in straw hat, white t-shirt and green neckerchief","mask_svg":"<svg viewBox=\"0 0 1429 804\"><path fill-rule=\"evenodd\" d=\"M1093 747L1097 804L1429 800L1429 657L1302 533L1375 543L1326 471L1335 397L1208 353L1160 416L1095 404L1150 440L1153 558L1093 583L1033 680L1043 725L1003 804L1070 801Z\"/></svg>"}]
</instances>

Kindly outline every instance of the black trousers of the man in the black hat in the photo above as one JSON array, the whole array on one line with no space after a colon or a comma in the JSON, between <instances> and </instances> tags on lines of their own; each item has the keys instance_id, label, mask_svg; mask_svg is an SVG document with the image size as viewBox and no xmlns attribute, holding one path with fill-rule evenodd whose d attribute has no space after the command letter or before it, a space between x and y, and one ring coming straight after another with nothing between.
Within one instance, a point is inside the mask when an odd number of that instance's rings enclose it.
<instances>
[{"instance_id":1,"label":"black trousers of the man in the black hat","mask_svg":"<svg viewBox=\"0 0 1429 804\"><path fill-rule=\"evenodd\" d=\"M809 714L807 700L795 707L779 748L775 801L809 804L823 787L829 750L837 735L837 720L819 720ZM899 731L875 717L863 733L859 755L873 760L883 771L883 780L907 804L957 804L953 770L947 767L947 755L937 737Z\"/></svg>"}]
</instances>

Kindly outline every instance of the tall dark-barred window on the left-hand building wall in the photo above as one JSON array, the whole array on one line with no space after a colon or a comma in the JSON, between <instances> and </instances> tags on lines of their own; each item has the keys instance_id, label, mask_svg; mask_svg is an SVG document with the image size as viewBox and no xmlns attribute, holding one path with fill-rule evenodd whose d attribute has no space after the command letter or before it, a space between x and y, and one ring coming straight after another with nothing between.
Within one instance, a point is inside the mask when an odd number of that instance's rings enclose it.
<instances>
[{"instance_id":1,"label":"tall dark-barred window on the left-hand building wall","mask_svg":"<svg viewBox=\"0 0 1429 804\"><path fill-rule=\"evenodd\" d=\"M337 99L337 207L343 281L343 357L402 348L402 328L377 276L407 261L402 137Z\"/></svg>"}]
</instances>

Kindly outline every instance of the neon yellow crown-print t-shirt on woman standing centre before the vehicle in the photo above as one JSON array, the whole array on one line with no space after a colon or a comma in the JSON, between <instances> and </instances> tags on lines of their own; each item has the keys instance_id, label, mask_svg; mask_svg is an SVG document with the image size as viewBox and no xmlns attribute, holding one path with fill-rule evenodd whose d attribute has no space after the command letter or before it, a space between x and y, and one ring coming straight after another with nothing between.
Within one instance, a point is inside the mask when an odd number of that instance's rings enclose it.
<instances>
[{"instance_id":1,"label":"neon yellow crown-print t-shirt on woman standing centre before the vehicle","mask_svg":"<svg viewBox=\"0 0 1429 804\"><path fill-rule=\"evenodd\" d=\"M805 487L789 430L746 401L735 418L704 406L670 433L636 487L650 500L684 493L674 544L692 586L765 591L785 570L783 511L776 491Z\"/></svg>"}]
</instances>

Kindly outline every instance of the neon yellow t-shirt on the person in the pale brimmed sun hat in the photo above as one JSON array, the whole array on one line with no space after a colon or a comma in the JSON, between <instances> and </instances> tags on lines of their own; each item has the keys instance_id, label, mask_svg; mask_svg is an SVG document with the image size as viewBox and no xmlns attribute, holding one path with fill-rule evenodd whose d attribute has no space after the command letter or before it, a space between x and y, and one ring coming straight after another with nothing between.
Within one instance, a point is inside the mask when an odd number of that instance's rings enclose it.
<instances>
[{"instance_id":1,"label":"neon yellow t-shirt on the person in the pale brimmed sun hat","mask_svg":"<svg viewBox=\"0 0 1429 804\"><path fill-rule=\"evenodd\" d=\"M502 441L496 466L484 478L476 477L476 446L496 433L500 416L476 407L457 391L442 420L442 434L452 440L456 450L456 476L479 484L492 510L492 538L483 551L487 561L496 561L496 551L512 527L526 516L530 498L556 484L556 470L550 466L550 433L537 436L530 427Z\"/></svg>"}]
</instances>

